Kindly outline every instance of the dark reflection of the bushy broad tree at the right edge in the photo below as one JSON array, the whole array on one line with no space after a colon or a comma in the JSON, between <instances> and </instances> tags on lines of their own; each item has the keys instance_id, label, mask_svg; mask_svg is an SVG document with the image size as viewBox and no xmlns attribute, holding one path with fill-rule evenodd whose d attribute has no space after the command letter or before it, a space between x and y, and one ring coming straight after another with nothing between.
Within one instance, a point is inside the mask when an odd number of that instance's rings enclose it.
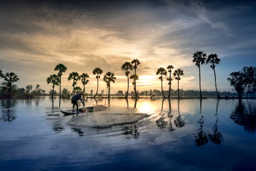
<instances>
[{"instance_id":1,"label":"dark reflection of the bushy broad tree at the right edge","mask_svg":"<svg viewBox=\"0 0 256 171\"><path fill-rule=\"evenodd\" d=\"M230 118L239 125L244 126L245 131L254 133L256 131L256 108L254 101L239 100Z\"/></svg>"}]
</instances>

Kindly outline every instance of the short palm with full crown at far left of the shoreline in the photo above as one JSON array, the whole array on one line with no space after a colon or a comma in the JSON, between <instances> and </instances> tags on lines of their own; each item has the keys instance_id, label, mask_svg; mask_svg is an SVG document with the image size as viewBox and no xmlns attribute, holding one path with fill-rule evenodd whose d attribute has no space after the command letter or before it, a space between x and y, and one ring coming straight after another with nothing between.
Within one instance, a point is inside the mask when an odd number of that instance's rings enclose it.
<instances>
[{"instance_id":1,"label":"short palm with full crown at far left of the shoreline","mask_svg":"<svg viewBox=\"0 0 256 171\"><path fill-rule=\"evenodd\" d=\"M2 73L0 73L2 74ZM12 88L13 86L13 83L14 82L17 82L19 80L18 76L13 73L13 72L10 72L10 73L6 73L5 75L2 74L2 77L4 78L5 82L3 82L3 84L6 86L7 88L7 92L8 92L8 97L11 97L11 93L12 93ZM16 87L16 86L15 86Z\"/></svg>"}]
</instances>

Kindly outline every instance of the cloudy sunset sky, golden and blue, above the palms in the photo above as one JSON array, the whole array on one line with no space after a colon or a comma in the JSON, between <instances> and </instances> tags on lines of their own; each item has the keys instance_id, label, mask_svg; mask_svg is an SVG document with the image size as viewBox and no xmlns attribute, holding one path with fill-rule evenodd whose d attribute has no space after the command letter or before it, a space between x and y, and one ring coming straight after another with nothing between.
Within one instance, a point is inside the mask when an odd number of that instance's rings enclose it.
<instances>
[{"instance_id":1,"label":"cloudy sunset sky, golden and blue, above the palms","mask_svg":"<svg viewBox=\"0 0 256 171\"><path fill-rule=\"evenodd\" d=\"M95 93L97 67L103 70L99 92L106 91L103 75L110 71L116 76L114 94L127 90L122 64L138 59L138 91L161 90L156 71L168 65L184 71L180 89L199 90L192 60L203 51L218 54L218 90L231 92L229 74L256 66L255 1L1 1L0 23L0 69L18 75L19 88L38 83L50 91L46 79L62 63L68 68L62 88L72 91L71 72L88 73L86 92ZM177 89L175 79L172 88ZM215 91L210 65L201 66L201 88Z\"/></svg>"}]
</instances>

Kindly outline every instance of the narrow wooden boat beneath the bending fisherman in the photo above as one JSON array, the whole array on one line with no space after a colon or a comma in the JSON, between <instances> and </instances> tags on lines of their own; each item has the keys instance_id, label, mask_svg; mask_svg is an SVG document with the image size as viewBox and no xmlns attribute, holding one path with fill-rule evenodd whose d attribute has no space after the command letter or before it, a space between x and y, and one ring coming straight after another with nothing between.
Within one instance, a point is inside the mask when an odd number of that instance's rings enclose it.
<instances>
[{"instance_id":1,"label":"narrow wooden boat beneath the bending fisherman","mask_svg":"<svg viewBox=\"0 0 256 171\"><path fill-rule=\"evenodd\" d=\"M106 110L106 106L103 106L103 105L89 106L86 108L79 108L78 114L91 113L91 112L104 111L104 110ZM64 116L77 114L76 110L74 112L73 110L60 111L60 112L62 112Z\"/></svg>"}]
</instances>

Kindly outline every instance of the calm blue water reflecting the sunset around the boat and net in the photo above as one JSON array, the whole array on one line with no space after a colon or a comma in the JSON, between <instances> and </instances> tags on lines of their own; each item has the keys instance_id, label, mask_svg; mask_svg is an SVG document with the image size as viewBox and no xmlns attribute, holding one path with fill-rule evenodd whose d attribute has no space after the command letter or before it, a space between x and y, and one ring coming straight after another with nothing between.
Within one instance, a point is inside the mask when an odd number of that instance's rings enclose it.
<instances>
[{"instance_id":1,"label":"calm blue water reflecting the sunset around the boat and net","mask_svg":"<svg viewBox=\"0 0 256 171\"><path fill-rule=\"evenodd\" d=\"M0 104L1 170L256 170L256 100L111 99L151 117L105 129L70 126L70 100Z\"/></svg>"}]
</instances>

